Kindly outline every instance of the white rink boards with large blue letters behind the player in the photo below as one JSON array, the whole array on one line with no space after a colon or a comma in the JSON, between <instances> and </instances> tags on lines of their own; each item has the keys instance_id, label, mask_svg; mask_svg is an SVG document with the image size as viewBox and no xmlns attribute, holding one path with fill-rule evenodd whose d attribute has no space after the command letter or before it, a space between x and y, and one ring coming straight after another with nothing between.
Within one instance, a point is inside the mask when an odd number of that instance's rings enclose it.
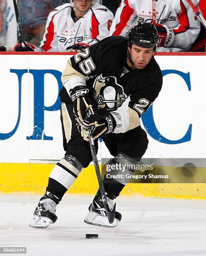
<instances>
[{"instance_id":1,"label":"white rink boards with large blue letters behind the player","mask_svg":"<svg viewBox=\"0 0 206 256\"><path fill-rule=\"evenodd\" d=\"M63 157L61 74L71 55L1 55L0 162ZM206 55L155 56L163 87L142 115L148 134L144 158L206 158ZM98 158L109 158L99 142Z\"/></svg>"}]
</instances>

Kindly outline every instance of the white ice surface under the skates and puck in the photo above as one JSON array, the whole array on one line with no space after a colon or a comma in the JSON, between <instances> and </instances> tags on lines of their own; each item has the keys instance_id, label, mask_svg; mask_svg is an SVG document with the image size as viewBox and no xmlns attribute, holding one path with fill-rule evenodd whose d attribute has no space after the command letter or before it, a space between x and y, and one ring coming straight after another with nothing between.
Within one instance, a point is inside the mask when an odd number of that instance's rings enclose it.
<instances>
[{"instance_id":1,"label":"white ice surface under the skates and puck","mask_svg":"<svg viewBox=\"0 0 206 256\"><path fill-rule=\"evenodd\" d=\"M120 196L121 222L116 228L101 228L83 222L93 197L65 195L55 224L29 228L39 198L0 195L1 247L27 247L28 256L206 255L204 200ZM86 233L99 238L85 239Z\"/></svg>"}]
</instances>

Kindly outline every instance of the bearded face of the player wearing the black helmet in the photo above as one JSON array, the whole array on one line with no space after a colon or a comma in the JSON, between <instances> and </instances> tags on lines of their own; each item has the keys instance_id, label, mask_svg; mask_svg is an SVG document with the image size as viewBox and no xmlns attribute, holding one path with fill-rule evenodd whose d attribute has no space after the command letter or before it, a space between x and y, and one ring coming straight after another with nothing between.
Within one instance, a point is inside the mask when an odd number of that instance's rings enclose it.
<instances>
[{"instance_id":1,"label":"bearded face of the player wearing the black helmet","mask_svg":"<svg viewBox=\"0 0 206 256\"><path fill-rule=\"evenodd\" d=\"M136 69L143 69L150 62L153 56L153 47L144 48L133 44L130 49L130 54L134 64L133 66Z\"/></svg>"}]
</instances>

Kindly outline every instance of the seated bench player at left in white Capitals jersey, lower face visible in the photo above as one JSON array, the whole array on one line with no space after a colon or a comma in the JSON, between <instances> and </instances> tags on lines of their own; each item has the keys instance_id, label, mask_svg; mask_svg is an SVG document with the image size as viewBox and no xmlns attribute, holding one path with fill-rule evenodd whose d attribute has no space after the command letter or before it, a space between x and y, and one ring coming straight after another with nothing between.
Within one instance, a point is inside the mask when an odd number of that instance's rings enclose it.
<instances>
[{"instance_id":1,"label":"seated bench player at left in white Capitals jersey, lower face visible","mask_svg":"<svg viewBox=\"0 0 206 256\"><path fill-rule=\"evenodd\" d=\"M23 42L15 51L80 51L109 34L113 13L93 0L60 5L47 19L40 47Z\"/></svg>"}]
</instances>

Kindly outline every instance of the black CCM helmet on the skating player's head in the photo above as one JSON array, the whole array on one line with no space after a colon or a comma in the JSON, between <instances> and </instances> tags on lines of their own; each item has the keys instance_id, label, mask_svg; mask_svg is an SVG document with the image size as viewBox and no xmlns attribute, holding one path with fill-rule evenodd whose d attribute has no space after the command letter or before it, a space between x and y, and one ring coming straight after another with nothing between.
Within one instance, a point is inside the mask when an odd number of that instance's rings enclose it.
<instances>
[{"instance_id":1,"label":"black CCM helmet on the skating player's head","mask_svg":"<svg viewBox=\"0 0 206 256\"><path fill-rule=\"evenodd\" d=\"M156 47L158 40L158 32L153 23L138 21L129 31L128 48L131 48L132 44L145 48Z\"/></svg>"}]
</instances>

